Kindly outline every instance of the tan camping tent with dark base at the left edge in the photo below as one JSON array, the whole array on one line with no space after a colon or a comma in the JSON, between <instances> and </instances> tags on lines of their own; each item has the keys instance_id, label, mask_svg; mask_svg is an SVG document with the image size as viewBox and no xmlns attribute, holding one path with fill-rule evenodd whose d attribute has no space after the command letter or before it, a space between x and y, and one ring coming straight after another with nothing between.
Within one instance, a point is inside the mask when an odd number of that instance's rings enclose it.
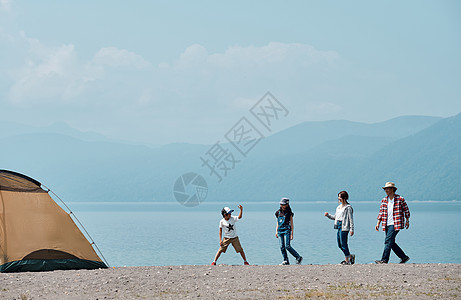
<instances>
[{"instance_id":1,"label":"tan camping tent with dark base at the left edge","mask_svg":"<svg viewBox=\"0 0 461 300\"><path fill-rule=\"evenodd\" d=\"M107 267L70 215L38 181L0 170L0 271L49 270L52 266Z\"/></svg>"}]
</instances>

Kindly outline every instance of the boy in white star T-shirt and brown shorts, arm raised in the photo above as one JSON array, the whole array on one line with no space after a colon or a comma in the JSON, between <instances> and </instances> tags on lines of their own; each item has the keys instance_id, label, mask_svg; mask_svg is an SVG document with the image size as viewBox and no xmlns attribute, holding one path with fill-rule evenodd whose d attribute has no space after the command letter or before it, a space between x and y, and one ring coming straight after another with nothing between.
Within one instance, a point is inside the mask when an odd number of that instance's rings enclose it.
<instances>
[{"instance_id":1,"label":"boy in white star T-shirt and brown shorts, arm raised","mask_svg":"<svg viewBox=\"0 0 461 300\"><path fill-rule=\"evenodd\" d=\"M211 263L212 266L216 265L216 261L218 260L221 253L226 253L226 250L229 244L232 244L232 246L235 249L235 252L240 253L240 255L243 258L243 264L246 266L249 265L245 257L245 252L243 252L243 248L240 245L240 241L239 241L239 238L237 236L237 233L234 227L235 222L237 222L238 220L242 218L243 207L239 205L238 208L240 209L240 213L238 217L232 216L232 212L234 210L230 209L229 207L224 207L221 210L221 214L223 216L221 221L219 221L219 245L221 247L219 248L218 253L216 253L214 261ZM223 228L224 228L224 239L222 238Z\"/></svg>"}]
</instances>

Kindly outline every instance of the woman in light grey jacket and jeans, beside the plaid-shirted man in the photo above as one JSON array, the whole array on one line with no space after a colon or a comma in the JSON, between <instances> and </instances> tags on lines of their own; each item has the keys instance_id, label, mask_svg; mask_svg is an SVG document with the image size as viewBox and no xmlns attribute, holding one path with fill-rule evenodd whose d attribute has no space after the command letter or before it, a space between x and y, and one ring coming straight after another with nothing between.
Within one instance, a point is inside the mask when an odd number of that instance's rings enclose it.
<instances>
[{"instance_id":1,"label":"woman in light grey jacket and jeans, beside the plaid-shirted man","mask_svg":"<svg viewBox=\"0 0 461 300\"><path fill-rule=\"evenodd\" d=\"M335 221L334 228L337 229L337 240L338 247L343 251L345 259L341 262L342 265L353 265L355 263L355 254L349 252L349 246L347 245L347 236L350 234L354 235L354 210L347 201L349 194L346 191L338 193L338 207L336 212L331 215L325 212L325 216Z\"/></svg>"}]
</instances>

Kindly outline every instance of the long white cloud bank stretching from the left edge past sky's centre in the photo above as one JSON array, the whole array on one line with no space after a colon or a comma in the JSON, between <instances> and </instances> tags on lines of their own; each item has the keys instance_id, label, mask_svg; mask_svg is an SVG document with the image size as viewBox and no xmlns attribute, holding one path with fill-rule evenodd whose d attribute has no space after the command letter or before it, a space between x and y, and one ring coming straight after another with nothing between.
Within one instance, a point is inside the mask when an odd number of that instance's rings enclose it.
<instances>
[{"instance_id":1,"label":"long white cloud bank stretching from the left edge past sky's centre","mask_svg":"<svg viewBox=\"0 0 461 300\"><path fill-rule=\"evenodd\" d=\"M218 53L193 44L176 60L153 67L141 55L117 47L101 48L82 61L73 44L50 47L20 36L28 52L25 63L11 72L9 98L22 105L81 102L97 95L98 102L109 105L170 102L193 110L224 104L241 110L247 102L242 99L298 84L300 78L309 80L303 86L316 88L315 77L340 61L335 51L299 43L232 46Z\"/></svg>"}]
</instances>

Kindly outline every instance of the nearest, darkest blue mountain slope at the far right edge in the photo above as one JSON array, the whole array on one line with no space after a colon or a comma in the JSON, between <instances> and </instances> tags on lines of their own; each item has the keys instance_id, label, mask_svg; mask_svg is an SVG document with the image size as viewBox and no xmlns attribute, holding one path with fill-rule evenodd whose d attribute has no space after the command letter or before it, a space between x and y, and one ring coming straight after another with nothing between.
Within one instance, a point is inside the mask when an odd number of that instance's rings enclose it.
<instances>
[{"instance_id":1,"label":"nearest, darkest blue mountain slope at the far right edge","mask_svg":"<svg viewBox=\"0 0 461 300\"><path fill-rule=\"evenodd\" d=\"M393 178L412 199L459 200L461 114L395 141L362 162L360 169L362 178L371 182ZM364 193L369 190L365 184L358 188Z\"/></svg>"}]
</instances>

